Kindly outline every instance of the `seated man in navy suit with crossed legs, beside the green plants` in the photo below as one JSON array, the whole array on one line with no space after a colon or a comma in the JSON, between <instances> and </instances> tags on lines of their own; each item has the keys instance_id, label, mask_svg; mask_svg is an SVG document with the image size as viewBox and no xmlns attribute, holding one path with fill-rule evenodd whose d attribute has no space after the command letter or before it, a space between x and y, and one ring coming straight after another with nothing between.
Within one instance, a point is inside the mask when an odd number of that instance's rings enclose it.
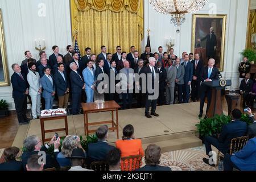
<instances>
[{"instance_id":1,"label":"seated man in navy suit with crossed legs, beside the green plants","mask_svg":"<svg viewBox=\"0 0 256 182\"><path fill-rule=\"evenodd\" d=\"M212 146L216 147L222 154L227 154L229 152L230 142L233 138L243 137L247 132L247 124L246 122L242 122L240 119L242 117L242 113L239 109L234 109L232 111L232 122L224 125L222 127L220 137L205 137L204 144L206 154L212 157L210 152L212 151ZM209 164L209 159L203 158L203 161ZM214 166L214 164L209 164L210 166Z\"/></svg>"}]
</instances>

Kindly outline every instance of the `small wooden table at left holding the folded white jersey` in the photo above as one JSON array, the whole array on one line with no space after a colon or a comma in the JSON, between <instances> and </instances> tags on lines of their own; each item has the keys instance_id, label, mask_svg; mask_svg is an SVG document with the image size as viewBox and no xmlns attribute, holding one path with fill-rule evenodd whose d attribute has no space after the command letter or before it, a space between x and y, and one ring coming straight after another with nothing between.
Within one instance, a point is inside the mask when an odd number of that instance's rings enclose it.
<instances>
[{"instance_id":1,"label":"small wooden table at left holding the folded white jersey","mask_svg":"<svg viewBox=\"0 0 256 182\"><path fill-rule=\"evenodd\" d=\"M52 120L57 120L57 119L65 119L65 128L63 129L53 129L53 130L44 130L44 121L52 121ZM52 133L55 131L65 131L66 136L68 135L68 118L67 114L59 114L59 115L49 115L49 116L44 116L40 117L40 124L41 124L41 133L42 133L42 142L47 142L51 140L51 138L46 138L46 133Z\"/></svg>"}]
</instances>

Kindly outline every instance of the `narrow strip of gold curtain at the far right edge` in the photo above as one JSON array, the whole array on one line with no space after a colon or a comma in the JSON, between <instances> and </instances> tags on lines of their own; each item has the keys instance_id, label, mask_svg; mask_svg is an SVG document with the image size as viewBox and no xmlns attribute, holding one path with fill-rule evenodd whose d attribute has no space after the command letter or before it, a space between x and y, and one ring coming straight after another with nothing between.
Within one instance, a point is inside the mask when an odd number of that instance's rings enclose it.
<instances>
[{"instance_id":1,"label":"narrow strip of gold curtain at the far right edge","mask_svg":"<svg viewBox=\"0 0 256 182\"><path fill-rule=\"evenodd\" d=\"M256 10L250 10L249 22L247 26L246 48L253 48L251 35L256 33Z\"/></svg>"}]
</instances>

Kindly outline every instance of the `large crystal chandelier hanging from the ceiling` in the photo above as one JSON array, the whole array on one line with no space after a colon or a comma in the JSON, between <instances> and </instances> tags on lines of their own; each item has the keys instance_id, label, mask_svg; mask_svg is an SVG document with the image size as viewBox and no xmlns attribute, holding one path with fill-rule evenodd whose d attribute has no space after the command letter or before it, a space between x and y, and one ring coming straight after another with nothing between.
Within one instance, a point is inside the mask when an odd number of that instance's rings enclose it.
<instances>
[{"instance_id":1,"label":"large crystal chandelier hanging from the ceiling","mask_svg":"<svg viewBox=\"0 0 256 182\"><path fill-rule=\"evenodd\" d=\"M171 14L171 23L179 27L185 22L186 13L196 13L203 9L208 0L150 0L154 10L162 14Z\"/></svg>"}]
</instances>

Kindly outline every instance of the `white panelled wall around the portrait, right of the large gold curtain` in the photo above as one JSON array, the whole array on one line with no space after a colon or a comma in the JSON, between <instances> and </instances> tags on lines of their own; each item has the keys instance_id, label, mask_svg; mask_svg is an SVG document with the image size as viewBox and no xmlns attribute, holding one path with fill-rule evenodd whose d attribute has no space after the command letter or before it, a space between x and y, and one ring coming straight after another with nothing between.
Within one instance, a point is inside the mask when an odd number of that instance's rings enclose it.
<instances>
[{"instance_id":1,"label":"white panelled wall around the portrait, right of the large gold curtain","mask_svg":"<svg viewBox=\"0 0 256 182\"><path fill-rule=\"evenodd\" d=\"M226 40L224 55L224 72L222 76L232 79L233 88L238 88L238 65L241 60L239 52L245 49L247 15L249 0L209 0L207 5L197 14L211 14L216 6L216 14L226 14ZM170 15L157 13L152 9L148 0L144 0L144 42L147 43L147 29L150 32L152 52L157 52L159 46L167 51L166 39L175 38L175 54L180 57L183 51L191 52L192 14L186 15L186 21L182 24L180 34L176 33L176 27L170 23Z\"/></svg>"}]
</instances>

